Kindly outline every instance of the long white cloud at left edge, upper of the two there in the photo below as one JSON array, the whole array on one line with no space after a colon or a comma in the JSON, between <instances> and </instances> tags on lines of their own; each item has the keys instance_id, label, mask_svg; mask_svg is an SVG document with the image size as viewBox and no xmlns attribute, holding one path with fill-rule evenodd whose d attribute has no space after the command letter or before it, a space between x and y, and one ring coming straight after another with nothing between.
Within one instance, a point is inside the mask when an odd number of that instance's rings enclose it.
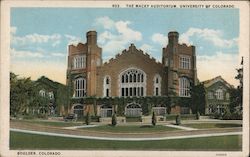
<instances>
[{"instance_id":1,"label":"long white cloud at left edge, upper of the two there","mask_svg":"<svg viewBox=\"0 0 250 157\"><path fill-rule=\"evenodd\" d=\"M11 32L15 32L17 29L12 28ZM42 44L42 43L51 43L54 47L61 42L61 35L60 34L52 34L52 35L42 35L42 34L28 34L25 36L12 36L11 44L14 45L30 45L30 44Z\"/></svg>"}]
</instances>

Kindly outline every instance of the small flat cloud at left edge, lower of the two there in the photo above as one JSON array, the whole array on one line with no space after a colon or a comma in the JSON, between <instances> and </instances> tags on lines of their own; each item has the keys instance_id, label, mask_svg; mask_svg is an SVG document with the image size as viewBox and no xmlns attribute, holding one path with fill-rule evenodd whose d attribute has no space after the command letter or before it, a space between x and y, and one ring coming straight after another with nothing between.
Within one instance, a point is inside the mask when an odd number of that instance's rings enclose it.
<instances>
[{"instance_id":1,"label":"small flat cloud at left edge, lower of the two there","mask_svg":"<svg viewBox=\"0 0 250 157\"><path fill-rule=\"evenodd\" d=\"M32 51L22 51L11 49L10 54L15 58L43 58L44 55L42 52L32 52Z\"/></svg>"}]
</instances>

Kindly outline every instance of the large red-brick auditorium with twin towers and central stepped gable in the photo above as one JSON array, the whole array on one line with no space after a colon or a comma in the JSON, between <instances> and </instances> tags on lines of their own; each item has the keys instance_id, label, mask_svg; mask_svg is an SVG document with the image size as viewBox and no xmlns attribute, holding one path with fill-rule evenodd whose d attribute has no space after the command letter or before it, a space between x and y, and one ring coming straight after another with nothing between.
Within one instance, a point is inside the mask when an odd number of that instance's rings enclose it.
<instances>
[{"instance_id":1,"label":"large red-brick auditorium with twin towers and central stepped gable","mask_svg":"<svg viewBox=\"0 0 250 157\"><path fill-rule=\"evenodd\" d=\"M97 32L89 31L86 37L86 43L68 47L66 82L72 97L69 112L84 115L96 110L98 116L110 116L117 108L98 103L94 109L93 104L83 99L88 97L190 97L190 86L197 82L195 47L179 44L178 32L168 33L169 43L162 50L162 62L157 62L131 44L128 49L103 63ZM135 101L128 102L124 114L142 114L141 105ZM171 112L187 111L181 104L174 106ZM154 110L159 114L166 113L164 107L155 107Z\"/></svg>"}]
</instances>

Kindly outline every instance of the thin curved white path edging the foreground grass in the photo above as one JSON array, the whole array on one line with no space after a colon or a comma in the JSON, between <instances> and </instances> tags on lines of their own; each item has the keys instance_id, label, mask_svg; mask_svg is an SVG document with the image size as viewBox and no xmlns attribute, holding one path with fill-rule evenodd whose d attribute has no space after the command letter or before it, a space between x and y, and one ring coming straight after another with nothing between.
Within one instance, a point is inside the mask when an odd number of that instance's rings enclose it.
<instances>
[{"instance_id":1,"label":"thin curved white path edging the foreground grass","mask_svg":"<svg viewBox=\"0 0 250 157\"><path fill-rule=\"evenodd\" d=\"M97 137L97 136L59 134L59 133L31 131L31 130L22 130L22 129L13 129L13 128L11 128L10 131L37 134L37 135L47 135L47 136L93 139L93 140L112 140L112 141L153 141L153 140L187 139L187 138L198 138L198 137L215 137L215 136L227 136L227 135L242 135L242 132L227 132L227 133L210 133L210 134L184 135L184 136L172 136L172 137L152 137L152 138L129 138L129 137L119 138L119 137L115 137L114 138L114 137Z\"/></svg>"}]
</instances>

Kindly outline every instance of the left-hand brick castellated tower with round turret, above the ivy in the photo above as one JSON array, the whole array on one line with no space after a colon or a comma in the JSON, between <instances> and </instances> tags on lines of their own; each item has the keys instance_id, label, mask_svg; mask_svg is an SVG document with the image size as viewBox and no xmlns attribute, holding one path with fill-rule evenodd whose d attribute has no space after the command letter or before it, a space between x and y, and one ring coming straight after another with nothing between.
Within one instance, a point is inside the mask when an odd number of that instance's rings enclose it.
<instances>
[{"instance_id":1,"label":"left-hand brick castellated tower with round turret, above the ivy","mask_svg":"<svg viewBox=\"0 0 250 157\"><path fill-rule=\"evenodd\" d=\"M97 45L96 31L87 32L86 38L85 44L68 47L67 85L73 98L96 95L96 69L102 65L102 49Z\"/></svg>"}]
</instances>

